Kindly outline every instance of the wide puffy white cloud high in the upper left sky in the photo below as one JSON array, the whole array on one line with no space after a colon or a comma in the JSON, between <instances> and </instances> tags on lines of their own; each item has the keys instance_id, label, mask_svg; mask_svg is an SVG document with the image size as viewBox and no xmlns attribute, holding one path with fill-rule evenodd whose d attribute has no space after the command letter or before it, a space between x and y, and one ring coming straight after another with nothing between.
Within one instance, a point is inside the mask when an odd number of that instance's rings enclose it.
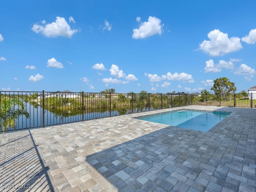
<instances>
[{"instance_id":1,"label":"wide puffy white cloud high in the upper left sky","mask_svg":"<svg viewBox=\"0 0 256 192\"><path fill-rule=\"evenodd\" d=\"M56 17L55 22L50 24L45 24L45 22L42 22L42 24L34 24L31 29L36 33L41 32L44 36L53 38L58 36L71 38L73 34L78 32L77 29L72 30L63 17Z\"/></svg>"}]
</instances>

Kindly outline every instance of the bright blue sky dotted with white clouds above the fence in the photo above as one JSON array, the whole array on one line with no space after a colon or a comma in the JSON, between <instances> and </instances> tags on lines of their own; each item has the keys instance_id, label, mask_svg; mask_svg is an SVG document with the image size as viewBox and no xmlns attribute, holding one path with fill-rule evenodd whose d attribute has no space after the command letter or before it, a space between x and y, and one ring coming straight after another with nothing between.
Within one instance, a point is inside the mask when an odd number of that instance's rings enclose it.
<instances>
[{"instance_id":1,"label":"bright blue sky dotted with white clouds above the fence","mask_svg":"<svg viewBox=\"0 0 256 192\"><path fill-rule=\"evenodd\" d=\"M0 90L256 85L256 1L1 0Z\"/></svg>"}]
</instances>

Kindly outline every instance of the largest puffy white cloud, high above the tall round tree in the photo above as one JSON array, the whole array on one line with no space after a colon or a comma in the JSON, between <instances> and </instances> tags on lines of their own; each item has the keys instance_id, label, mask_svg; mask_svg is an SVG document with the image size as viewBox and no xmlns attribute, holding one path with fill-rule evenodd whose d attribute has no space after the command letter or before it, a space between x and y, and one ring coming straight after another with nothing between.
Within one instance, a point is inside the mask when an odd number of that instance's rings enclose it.
<instances>
[{"instance_id":1,"label":"largest puffy white cloud, high above the tall round tree","mask_svg":"<svg viewBox=\"0 0 256 192\"><path fill-rule=\"evenodd\" d=\"M204 40L199 45L199 49L210 56L223 56L226 53L236 52L242 48L240 38L228 38L227 33L220 32L218 29L209 32L208 38L210 40Z\"/></svg>"}]
</instances>

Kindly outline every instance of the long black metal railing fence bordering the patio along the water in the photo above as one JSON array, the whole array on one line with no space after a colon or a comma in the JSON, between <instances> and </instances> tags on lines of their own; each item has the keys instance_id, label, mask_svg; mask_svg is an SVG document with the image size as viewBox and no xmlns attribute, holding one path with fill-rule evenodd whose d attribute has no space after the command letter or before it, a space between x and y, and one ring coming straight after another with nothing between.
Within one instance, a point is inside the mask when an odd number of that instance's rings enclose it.
<instances>
[{"instance_id":1,"label":"long black metal railing fence bordering the patio along the water","mask_svg":"<svg viewBox=\"0 0 256 192\"><path fill-rule=\"evenodd\" d=\"M253 108L256 96L0 91L0 132L188 105Z\"/></svg>"}]
</instances>

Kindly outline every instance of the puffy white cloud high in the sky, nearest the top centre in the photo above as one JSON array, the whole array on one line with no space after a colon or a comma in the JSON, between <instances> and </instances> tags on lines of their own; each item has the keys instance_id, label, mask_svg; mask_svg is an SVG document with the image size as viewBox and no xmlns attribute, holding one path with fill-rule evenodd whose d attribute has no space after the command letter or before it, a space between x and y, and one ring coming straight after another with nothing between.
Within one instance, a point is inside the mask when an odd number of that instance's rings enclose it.
<instances>
[{"instance_id":1,"label":"puffy white cloud high in the sky, nearest the top centre","mask_svg":"<svg viewBox=\"0 0 256 192\"><path fill-rule=\"evenodd\" d=\"M139 19L136 18L136 20L138 21ZM148 21L141 23L138 29L133 29L132 38L143 39L155 34L161 35L163 26L164 24L161 25L160 19L149 16Z\"/></svg>"}]
</instances>

